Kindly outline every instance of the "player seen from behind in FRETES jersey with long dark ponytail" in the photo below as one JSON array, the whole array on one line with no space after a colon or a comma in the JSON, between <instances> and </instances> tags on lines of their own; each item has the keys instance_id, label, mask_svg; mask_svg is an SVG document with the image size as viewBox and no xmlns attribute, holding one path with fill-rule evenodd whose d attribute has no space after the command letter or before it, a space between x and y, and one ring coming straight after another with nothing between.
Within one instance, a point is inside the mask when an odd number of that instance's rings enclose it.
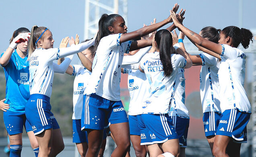
<instances>
[{"instance_id":1,"label":"player seen from behind in FRETES jersey with long dark ponytail","mask_svg":"<svg viewBox=\"0 0 256 157\"><path fill-rule=\"evenodd\" d=\"M169 104L175 90L179 68L190 68L192 62L187 52L178 48L174 54L172 36L169 30L155 34L156 52L145 54L139 69L145 72L149 84L149 95L144 99L142 115L138 115L141 145L147 145L150 156L161 154L175 157L180 154L178 136L169 117ZM186 59L185 59L186 58Z\"/></svg>"}]
</instances>

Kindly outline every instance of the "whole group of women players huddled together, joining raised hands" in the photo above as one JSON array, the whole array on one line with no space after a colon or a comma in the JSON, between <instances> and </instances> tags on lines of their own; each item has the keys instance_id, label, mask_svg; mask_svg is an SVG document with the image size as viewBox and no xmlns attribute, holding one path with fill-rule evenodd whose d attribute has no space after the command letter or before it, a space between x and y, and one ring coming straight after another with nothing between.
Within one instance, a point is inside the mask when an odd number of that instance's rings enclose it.
<instances>
[{"instance_id":1,"label":"whole group of women players huddled together, joining raised hands","mask_svg":"<svg viewBox=\"0 0 256 157\"><path fill-rule=\"evenodd\" d=\"M21 156L23 126L36 157L55 157L64 149L50 105L54 72L75 76L73 143L81 157L103 157L107 136L117 146L111 157L129 157L130 141L136 157L185 157L189 114L184 70L198 65L204 132L212 154L239 157L251 106L243 87L246 54L237 47L248 48L253 35L236 26L208 26L196 34L182 24L185 10L178 8L175 4L165 20L154 19L129 33L122 16L103 14L94 38L79 43L78 35L66 37L59 48L53 48L46 27L15 30L0 58L6 77L0 109L10 157ZM200 54L186 52L184 36ZM81 65L70 65L74 54ZM121 73L128 74L128 116L120 99Z\"/></svg>"}]
</instances>

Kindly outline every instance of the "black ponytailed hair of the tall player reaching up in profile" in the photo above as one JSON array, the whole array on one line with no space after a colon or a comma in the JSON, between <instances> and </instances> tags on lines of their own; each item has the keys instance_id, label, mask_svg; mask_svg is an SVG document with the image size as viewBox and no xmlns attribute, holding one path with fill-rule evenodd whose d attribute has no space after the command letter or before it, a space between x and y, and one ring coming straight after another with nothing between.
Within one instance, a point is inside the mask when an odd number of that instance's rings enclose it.
<instances>
[{"instance_id":1,"label":"black ponytailed hair of the tall player reaching up in profile","mask_svg":"<svg viewBox=\"0 0 256 157\"><path fill-rule=\"evenodd\" d=\"M122 16L118 14L110 14L110 15L103 14L99 19L99 31L95 39L94 52L96 52L101 38L103 38L104 36L108 36L109 34L112 33L109 31L108 27L113 26L113 22L116 21L116 17L122 17Z\"/></svg>"}]
</instances>

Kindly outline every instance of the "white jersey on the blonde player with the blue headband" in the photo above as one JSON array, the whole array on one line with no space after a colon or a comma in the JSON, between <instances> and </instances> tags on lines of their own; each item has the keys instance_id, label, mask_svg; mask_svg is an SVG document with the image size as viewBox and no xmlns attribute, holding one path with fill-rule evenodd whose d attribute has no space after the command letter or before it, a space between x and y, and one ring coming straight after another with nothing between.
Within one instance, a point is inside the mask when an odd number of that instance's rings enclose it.
<instances>
[{"instance_id":1,"label":"white jersey on the blonde player with the blue headband","mask_svg":"<svg viewBox=\"0 0 256 157\"><path fill-rule=\"evenodd\" d=\"M32 53L29 58L30 95L51 97L54 72L64 73L72 60L67 58L60 65L54 63L53 60L59 59L59 52L59 48L38 48Z\"/></svg>"}]
</instances>

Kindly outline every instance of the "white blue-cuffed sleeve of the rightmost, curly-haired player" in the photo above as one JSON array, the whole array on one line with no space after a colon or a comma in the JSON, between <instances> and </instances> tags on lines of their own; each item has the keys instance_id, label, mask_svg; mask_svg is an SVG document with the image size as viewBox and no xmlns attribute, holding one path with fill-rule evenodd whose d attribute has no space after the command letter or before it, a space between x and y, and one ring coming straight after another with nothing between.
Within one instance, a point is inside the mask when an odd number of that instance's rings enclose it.
<instances>
[{"instance_id":1,"label":"white blue-cuffed sleeve of the rightmost, curly-haired player","mask_svg":"<svg viewBox=\"0 0 256 157\"><path fill-rule=\"evenodd\" d=\"M222 52L221 52L221 59L223 57L230 59L230 60L235 60L239 56L239 52L235 50L235 48L227 45L227 44L221 44L222 46Z\"/></svg>"}]
</instances>

